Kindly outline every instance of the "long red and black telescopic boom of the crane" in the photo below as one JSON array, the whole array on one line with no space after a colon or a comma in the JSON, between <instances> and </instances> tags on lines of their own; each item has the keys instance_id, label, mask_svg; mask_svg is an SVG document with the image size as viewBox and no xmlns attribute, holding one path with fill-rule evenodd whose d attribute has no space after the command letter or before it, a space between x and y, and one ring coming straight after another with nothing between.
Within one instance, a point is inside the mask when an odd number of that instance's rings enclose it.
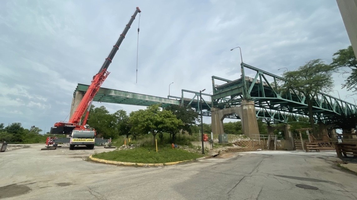
<instances>
[{"instance_id":1,"label":"long red and black telescopic boom of the crane","mask_svg":"<svg viewBox=\"0 0 357 200\"><path fill-rule=\"evenodd\" d=\"M139 7L136 7L134 14L131 16L131 18L130 18L129 22L127 23L127 25L125 26L123 32L120 34L118 41L115 43L115 45L113 46L112 50L110 51L108 57L105 59L99 72L93 77L93 80L92 80L90 86L88 87L83 99L80 101L77 109L74 111L69 122L68 123L57 122L57 123L55 123L56 127L67 125L67 126L76 126L76 128L80 128L80 129L85 129L85 127L84 127L85 124L80 125L80 126L77 124L81 121L81 117L84 115L84 113L90 106L94 96L97 94L100 86L102 85L104 80L109 75L109 72L107 72L107 69L108 69L110 63L112 62L112 60L115 56L115 53L118 51L120 44L124 40L125 35L128 32L132 22L135 20L135 17L139 12L141 12L141 10L139 9ZM86 117L87 117L87 115L86 115ZM84 120L84 121L86 121L86 120Z\"/></svg>"}]
</instances>

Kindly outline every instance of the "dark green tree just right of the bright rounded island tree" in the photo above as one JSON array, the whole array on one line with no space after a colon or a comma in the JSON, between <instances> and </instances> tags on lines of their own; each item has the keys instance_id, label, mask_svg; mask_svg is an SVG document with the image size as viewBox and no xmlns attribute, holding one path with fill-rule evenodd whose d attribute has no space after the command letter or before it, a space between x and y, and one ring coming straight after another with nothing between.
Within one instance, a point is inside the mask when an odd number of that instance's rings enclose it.
<instances>
[{"instance_id":1,"label":"dark green tree just right of the bright rounded island tree","mask_svg":"<svg viewBox=\"0 0 357 200\"><path fill-rule=\"evenodd\" d=\"M165 108L165 110L171 111L177 119L182 121L182 125L178 127L178 129L171 130L170 137L172 142L175 142L176 134L179 131L187 131L190 135L192 135L191 127L196 125L196 121L199 120L198 113L193 110L191 107L179 106L179 105L170 105Z\"/></svg>"}]
</instances>

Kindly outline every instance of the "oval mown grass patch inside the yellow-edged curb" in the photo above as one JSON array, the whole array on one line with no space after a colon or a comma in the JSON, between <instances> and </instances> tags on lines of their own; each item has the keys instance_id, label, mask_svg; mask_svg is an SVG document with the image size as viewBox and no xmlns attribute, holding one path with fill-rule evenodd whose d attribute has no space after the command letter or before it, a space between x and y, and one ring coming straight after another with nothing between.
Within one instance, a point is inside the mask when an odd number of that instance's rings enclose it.
<instances>
[{"instance_id":1,"label":"oval mown grass patch inside the yellow-edged curb","mask_svg":"<svg viewBox=\"0 0 357 200\"><path fill-rule=\"evenodd\" d=\"M130 163L169 163L182 160L191 160L202 157L202 154L190 153L182 149L169 147L156 149L152 147L140 147L127 150L116 150L94 154L92 157Z\"/></svg>"}]
</instances>

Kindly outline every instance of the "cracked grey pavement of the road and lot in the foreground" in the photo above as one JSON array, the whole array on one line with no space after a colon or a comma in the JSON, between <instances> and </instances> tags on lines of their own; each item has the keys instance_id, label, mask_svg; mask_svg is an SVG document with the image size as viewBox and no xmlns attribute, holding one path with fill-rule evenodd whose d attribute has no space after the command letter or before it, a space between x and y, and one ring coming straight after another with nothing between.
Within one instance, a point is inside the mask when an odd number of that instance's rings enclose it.
<instances>
[{"instance_id":1,"label":"cracked grey pavement of the road and lot in the foreground","mask_svg":"<svg viewBox=\"0 0 357 200\"><path fill-rule=\"evenodd\" d=\"M167 167L122 167L84 160L94 152L43 145L0 153L0 191L6 200L357 199L357 176L341 171L334 152L229 153ZM298 188L297 184L318 190ZM24 187L26 186L26 190ZM17 189L22 189L15 196ZM2 194L0 194L2 199Z\"/></svg>"}]
</instances>

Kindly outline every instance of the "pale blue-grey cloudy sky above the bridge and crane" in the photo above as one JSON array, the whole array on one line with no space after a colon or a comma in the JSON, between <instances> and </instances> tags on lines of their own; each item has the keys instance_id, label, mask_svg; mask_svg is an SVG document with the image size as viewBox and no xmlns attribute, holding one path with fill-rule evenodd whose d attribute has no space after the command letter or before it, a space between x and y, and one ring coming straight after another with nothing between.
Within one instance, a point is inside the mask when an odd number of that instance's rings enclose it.
<instances>
[{"instance_id":1,"label":"pale blue-grey cloudy sky above the bridge and crane","mask_svg":"<svg viewBox=\"0 0 357 200\"><path fill-rule=\"evenodd\" d=\"M274 74L351 45L336 0L1 0L0 123L46 128L68 120L78 83L90 84L127 21L138 17L108 71L105 88L165 97L212 91L211 76L240 77L243 61ZM335 75L341 98L343 78ZM331 93L337 96L337 92ZM355 98L356 99L356 98ZM348 98L346 101L353 102ZM111 112L142 107L104 105ZM209 122L209 119L206 119Z\"/></svg>"}]
</instances>

